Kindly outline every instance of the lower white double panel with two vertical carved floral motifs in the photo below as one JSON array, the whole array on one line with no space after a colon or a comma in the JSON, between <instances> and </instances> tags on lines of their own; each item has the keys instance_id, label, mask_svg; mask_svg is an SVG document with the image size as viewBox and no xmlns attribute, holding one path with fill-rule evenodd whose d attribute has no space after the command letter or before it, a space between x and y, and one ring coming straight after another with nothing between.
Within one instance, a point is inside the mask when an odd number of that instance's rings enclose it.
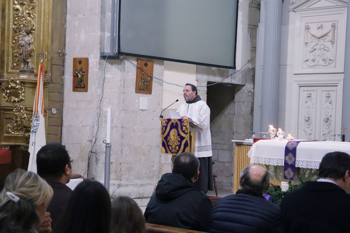
<instances>
[{"instance_id":1,"label":"lower white double panel with two vertical carved floral motifs","mask_svg":"<svg viewBox=\"0 0 350 233\"><path fill-rule=\"evenodd\" d=\"M332 140L341 128L341 83L297 83L297 138ZM339 140L336 138L335 140Z\"/></svg>"}]
</instances>

